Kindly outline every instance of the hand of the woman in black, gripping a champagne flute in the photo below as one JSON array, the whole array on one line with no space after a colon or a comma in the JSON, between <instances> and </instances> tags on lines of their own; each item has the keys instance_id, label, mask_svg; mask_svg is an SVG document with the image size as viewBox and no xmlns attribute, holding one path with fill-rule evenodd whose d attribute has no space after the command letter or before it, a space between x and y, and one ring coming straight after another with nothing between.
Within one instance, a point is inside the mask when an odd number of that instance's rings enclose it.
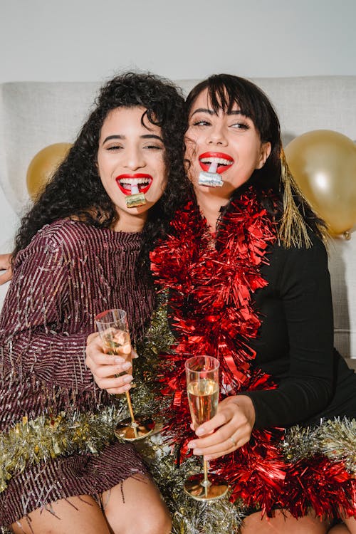
<instances>
[{"instance_id":1,"label":"hand of the woman in black, gripping a champagne flute","mask_svg":"<svg viewBox=\"0 0 356 534\"><path fill-rule=\"evenodd\" d=\"M229 454L247 443L255 423L255 409L250 397L237 395L219 403L212 419L198 426L198 439L189 442L193 454L213 460Z\"/></svg>"}]
</instances>

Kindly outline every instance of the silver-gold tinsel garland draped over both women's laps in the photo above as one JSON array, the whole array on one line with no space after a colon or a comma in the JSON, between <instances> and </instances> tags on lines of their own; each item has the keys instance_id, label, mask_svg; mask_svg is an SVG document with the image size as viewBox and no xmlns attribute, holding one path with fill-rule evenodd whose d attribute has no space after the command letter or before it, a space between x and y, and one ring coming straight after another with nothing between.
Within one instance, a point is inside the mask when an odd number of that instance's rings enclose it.
<instances>
[{"instance_id":1,"label":"silver-gold tinsel garland draped over both women's laps","mask_svg":"<svg viewBox=\"0 0 356 534\"><path fill-rule=\"evenodd\" d=\"M169 397L157 392L157 355L167 352L174 338L167 325L166 308L161 305L147 333L145 342L137 346L139 365L135 365L136 386L132 388L135 412L155 417L162 412ZM113 399L112 406L100 412L58 414L56 418L26 418L10 431L0 434L0 491L26 465L82 451L97 454L113 437L117 421L127 417L125 397ZM157 422L162 426L164 422ZM184 480L201 471L201 459L194 456L177 466L177 446L167 438L155 434L138 441L137 449L147 461L172 513L174 534L238 533L247 511L244 503L231 503L229 498L211 503L199 503L185 495ZM281 443L286 461L296 461L323 454L333 461L344 461L347 471L356 474L356 421L335 419L320 422L319 426L293 426L286 431ZM1 529L6 533L4 528Z\"/></svg>"}]
</instances>

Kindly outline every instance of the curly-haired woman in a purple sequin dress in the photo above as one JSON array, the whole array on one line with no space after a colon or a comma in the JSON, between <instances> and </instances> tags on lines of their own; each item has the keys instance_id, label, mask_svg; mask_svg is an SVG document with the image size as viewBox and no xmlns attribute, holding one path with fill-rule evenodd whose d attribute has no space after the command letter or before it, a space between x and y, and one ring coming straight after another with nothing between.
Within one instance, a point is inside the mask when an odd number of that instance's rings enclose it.
<instances>
[{"instance_id":1,"label":"curly-haired woman in a purple sequin dress","mask_svg":"<svg viewBox=\"0 0 356 534\"><path fill-rule=\"evenodd\" d=\"M166 80L113 78L23 217L0 318L0 524L14 533L169 533L169 514L135 449L115 441L96 451L80 417L112 404L85 367L95 315L127 310L135 342L152 314L149 253L187 187L184 116L184 100ZM145 201L132 206L135 192ZM120 392L130 388L127 367L118 358ZM78 427L77 441L46 434L63 421Z\"/></svg>"}]
</instances>

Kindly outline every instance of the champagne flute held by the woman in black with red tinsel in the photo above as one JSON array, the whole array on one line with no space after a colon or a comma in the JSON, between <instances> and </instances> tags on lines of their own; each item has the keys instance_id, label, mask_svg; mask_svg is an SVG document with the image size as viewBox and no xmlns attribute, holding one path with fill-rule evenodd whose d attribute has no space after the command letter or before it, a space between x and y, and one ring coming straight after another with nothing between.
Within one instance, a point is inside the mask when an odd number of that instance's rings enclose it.
<instances>
[{"instance_id":1,"label":"champagne flute held by the woman in black with red tinsel","mask_svg":"<svg viewBox=\"0 0 356 534\"><path fill-rule=\"evenodd\" d=\"M194 356L185 362L187 393L194 427L209 421L219 404L219 360L211 356ZM226 481L208 478L209 465L204 460L204 475L193 475L184 482L184 491L197 501L213 501L229 489Z\"/></svg>"}]
</instances>

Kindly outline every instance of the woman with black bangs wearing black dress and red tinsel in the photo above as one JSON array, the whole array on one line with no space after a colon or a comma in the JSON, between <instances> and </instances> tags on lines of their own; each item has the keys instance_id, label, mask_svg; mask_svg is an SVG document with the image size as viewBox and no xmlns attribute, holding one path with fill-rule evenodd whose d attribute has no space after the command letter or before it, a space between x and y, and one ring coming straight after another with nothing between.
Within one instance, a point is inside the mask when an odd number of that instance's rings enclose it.
<instances>
[{"instance_id":1,"label":"woman with black bangs wearing black dress and red tinsel","mask_svg":"<svg viewBox=\"0 0 356 534\"><path fill-rule=\"evenodd\" d=\"M333 528L355 534L356 377L333 348L325 224L288 170L261 89L213 75L186 105L194 192L151 253L177 336L159 369L172 444L181 462L190 449L225 476L248 515L241 533L322 534L341 518ZM95 350L88 365L105 387L112 372ZM184 362L194 355L218 358L221 402L193 439ZM334 435L344 436L335 450Z\"/></svg>"}]
</instances>

